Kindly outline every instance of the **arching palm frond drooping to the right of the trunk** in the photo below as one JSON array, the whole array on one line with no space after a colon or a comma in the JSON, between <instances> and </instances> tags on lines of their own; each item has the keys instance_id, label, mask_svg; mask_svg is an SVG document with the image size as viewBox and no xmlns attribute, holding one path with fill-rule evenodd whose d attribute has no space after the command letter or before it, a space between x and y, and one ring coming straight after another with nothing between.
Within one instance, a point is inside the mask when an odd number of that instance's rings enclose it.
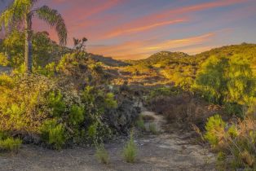
<instances>
[{"instance_id":1,"label":"arching palm frond drooping to the right of the trunk","mask_svg":"<svg viewBox=\"0 0 256 171\"><path fill-rule=\"evenodd\" d=\"M60 13L51 9L50 7L43 6L36 11L36 14L38 15L39 19L46 21L47 24L55 28L55 31L58 33L60 45L65 45L67 43L68 33L64 19Z\"/></svg>"}]
</instances>

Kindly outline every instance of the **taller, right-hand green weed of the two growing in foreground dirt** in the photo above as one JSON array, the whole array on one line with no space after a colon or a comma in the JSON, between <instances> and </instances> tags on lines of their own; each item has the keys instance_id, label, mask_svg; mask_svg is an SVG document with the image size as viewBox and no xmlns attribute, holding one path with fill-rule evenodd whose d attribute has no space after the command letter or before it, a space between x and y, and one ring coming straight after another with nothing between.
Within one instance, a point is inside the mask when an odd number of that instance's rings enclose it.
<instances>
[{"instance_id":1,"label":"taller, right-hand green weed of the two growing in foreground dirt","mask_svg":"<svg viewBox=\"0 0 256 171\"><path fill-rule=\"evenodd\" d=\"M134 141L133 133L130 134L130 139L126 142L123 149L123 157L128 163L134 163L137 156L137 147Z\"/></svg>"}]
</instances>

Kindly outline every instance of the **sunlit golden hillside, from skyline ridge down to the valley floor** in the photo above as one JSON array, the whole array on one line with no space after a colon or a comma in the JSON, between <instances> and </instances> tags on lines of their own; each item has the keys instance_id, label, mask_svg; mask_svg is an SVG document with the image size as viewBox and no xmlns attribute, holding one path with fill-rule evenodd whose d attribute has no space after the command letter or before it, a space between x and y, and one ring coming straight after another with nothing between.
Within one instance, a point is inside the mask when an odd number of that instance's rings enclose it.
<instances>
[{"instance_id":1,"label":"sunlit golden hillside, from skyline ridge down to the valley floor","mask_svg":"<svg viewBox=\"0 0 256 171\"><path fill-rule=\"evenodd\" d=\"M127 76L131 74L132 77L126 77L126 81L131 84L138 82L148 85L171 83L187 86L196 77L196 71L205 59L213 55L246 60L256 73L256 45L247 43L223 46L197 55L161 51L147 59L127 61L132 65L121 68L121 71Z\"/></svg>"}]
</instances>

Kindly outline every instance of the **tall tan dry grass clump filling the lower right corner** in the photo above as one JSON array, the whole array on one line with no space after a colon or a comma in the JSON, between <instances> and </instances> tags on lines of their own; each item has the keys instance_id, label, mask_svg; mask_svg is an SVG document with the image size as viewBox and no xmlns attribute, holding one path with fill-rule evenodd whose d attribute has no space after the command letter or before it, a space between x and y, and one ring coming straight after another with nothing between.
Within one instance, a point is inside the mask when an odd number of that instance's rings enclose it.
<instances>
[{"instance_id":1,"label":"tall tan dry grass clump filling the lower right corner","mask_svg":"<svg viewBox=\"0 0 256 171\"><path fill-rule=\"evenodd\" d=\"M214 128L215 126L208 133L217 140L213 144L214 150L231 156L229 160L223 160L233 169L256 170L256 121L246 118L244 121L229 124L223 129ZM207 140L209 140L209 136Z\"/></svg>"}]
</instances>

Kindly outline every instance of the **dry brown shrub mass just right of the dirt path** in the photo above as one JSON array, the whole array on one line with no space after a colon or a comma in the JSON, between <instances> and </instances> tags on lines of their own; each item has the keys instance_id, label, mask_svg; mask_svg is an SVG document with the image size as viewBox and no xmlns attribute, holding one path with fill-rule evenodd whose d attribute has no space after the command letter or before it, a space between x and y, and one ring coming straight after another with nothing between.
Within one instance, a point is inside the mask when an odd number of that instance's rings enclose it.
<instances>
[{"instance_id":1,"label":"dry brown shrub mass just right of the dirt path","mask_svg":"<svg viewBox=\"0 0 256 171\"><path fill-rule=\"evenodd\" d=\"M200 128L205 125L209 116L221 112L221 107L205 103L186 93L169 97L158 96L148 103L148 107L166 116L170 122L193 123Z\"/></svg>"}]
</instances>

